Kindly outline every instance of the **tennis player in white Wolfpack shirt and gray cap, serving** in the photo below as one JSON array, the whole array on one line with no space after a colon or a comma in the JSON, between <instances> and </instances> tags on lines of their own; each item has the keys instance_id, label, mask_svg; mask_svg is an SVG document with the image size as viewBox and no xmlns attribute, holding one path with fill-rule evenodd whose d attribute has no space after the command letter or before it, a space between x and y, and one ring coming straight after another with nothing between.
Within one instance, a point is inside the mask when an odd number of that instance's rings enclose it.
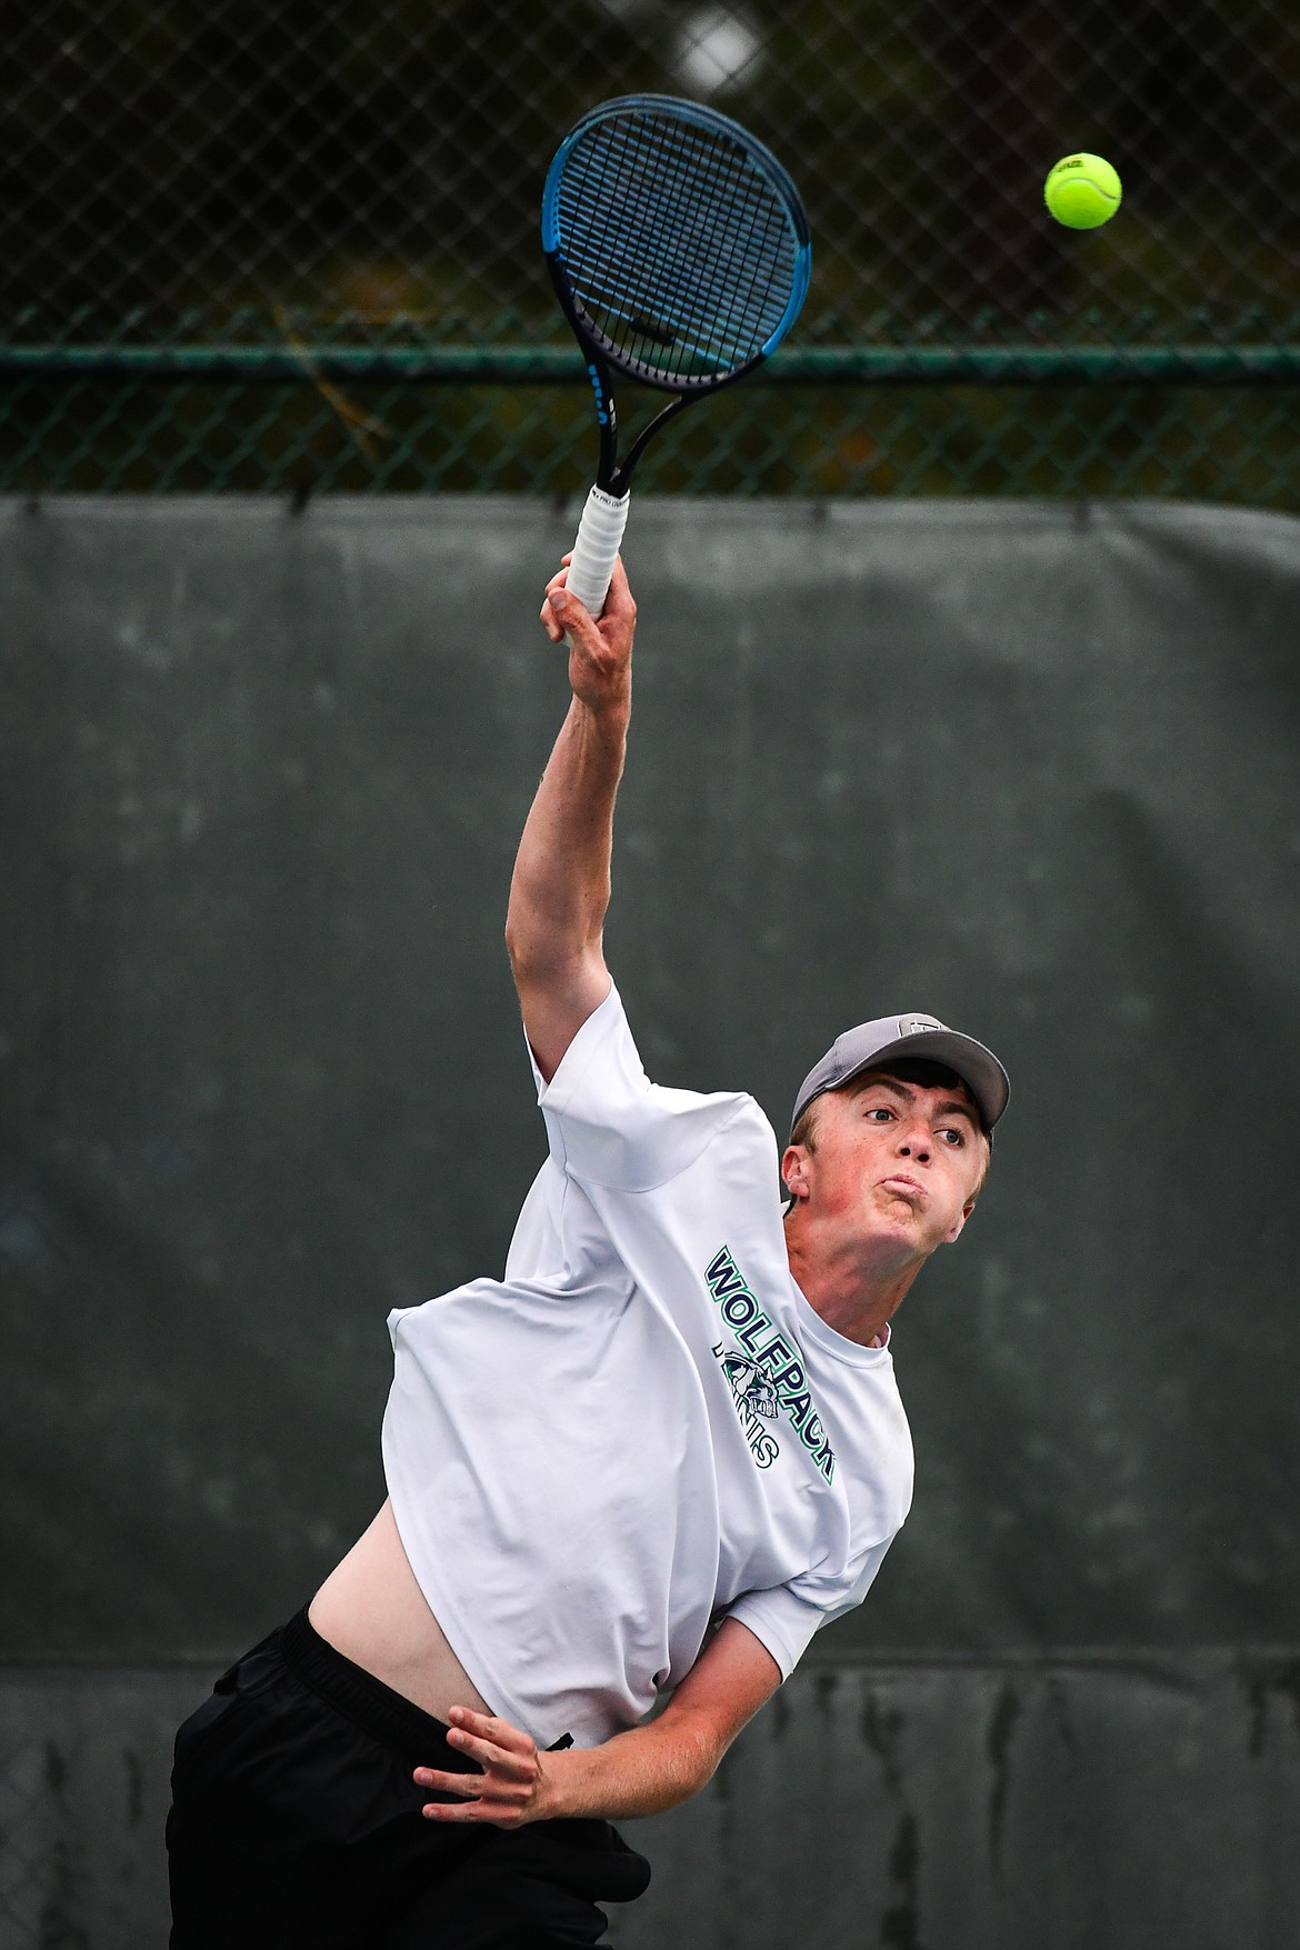
<instances>
[{"instance_id":1,"label":"tennis player in white Wolfpack shirt and gray cap, serving","mask_svg":"<svg viewBox=\"0 0 1300 1950\"><path fill-rule=\"evenodd\" d=\"M635 608L563 579L507 922L550 1156L505 1279L390 1316L382 1511L177 1734L173 1950L594 1944L649 1880L610 1821L709 1780L908 1511L889 1322L1006 1074L861 1024L784 1156L750 1096L647 1080L602 957Z\"/></svg>"}]
</instances>

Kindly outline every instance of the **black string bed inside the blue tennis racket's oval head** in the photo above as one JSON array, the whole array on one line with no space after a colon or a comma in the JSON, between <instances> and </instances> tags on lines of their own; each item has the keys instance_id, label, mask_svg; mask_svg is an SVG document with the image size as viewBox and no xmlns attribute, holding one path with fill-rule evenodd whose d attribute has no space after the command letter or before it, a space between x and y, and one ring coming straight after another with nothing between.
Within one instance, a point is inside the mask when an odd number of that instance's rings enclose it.
<instances>
[{"instance_id":1,"label":"black string bed inside the blue tennis racket's oval head","mask_svg":"<svg viewBox=\"0 0 1300 1950\"><path fill-rule=\"evenodd\" d=\"M645 376L731 372L780 326L799 238L780 189L729 136L645 113L594 125L567 158L557 209L573 296Z\"/></svg>"}]
</instances>

